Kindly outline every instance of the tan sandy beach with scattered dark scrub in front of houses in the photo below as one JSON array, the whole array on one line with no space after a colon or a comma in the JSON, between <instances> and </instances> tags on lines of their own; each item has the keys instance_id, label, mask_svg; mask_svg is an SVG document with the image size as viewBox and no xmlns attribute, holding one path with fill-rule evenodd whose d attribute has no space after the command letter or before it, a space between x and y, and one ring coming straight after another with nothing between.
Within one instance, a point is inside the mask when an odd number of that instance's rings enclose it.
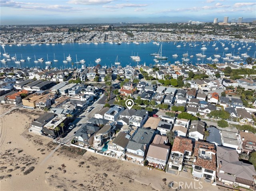
<instances>
[{"instance_id":1,"label":"tan sandy beach with scattered dark scrub in front of houses","mask_svg":"<svg viewBox=\"0 0 256 191\"><path fill-rule=\"evenodd\" d=\"M12 107L0 106L1 114ZM170 181L192 183L197 188L202 184L200 190L226 190L78 148L58 146L50 138L28 132L31 121L42 113L44 111L15 109L2 116L1 191L175 190L168 188ZM194 190L194 187L182 190Z\"/></svg>"}]
</instances>

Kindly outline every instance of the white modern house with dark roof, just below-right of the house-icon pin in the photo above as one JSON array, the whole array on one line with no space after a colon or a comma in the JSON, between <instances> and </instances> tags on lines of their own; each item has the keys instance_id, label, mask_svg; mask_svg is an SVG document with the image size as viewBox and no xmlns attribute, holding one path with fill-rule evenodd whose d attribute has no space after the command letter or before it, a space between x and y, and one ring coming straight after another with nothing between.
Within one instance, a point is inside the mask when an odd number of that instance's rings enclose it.
<instances>
[{"instance_id":1,"label":"white modern house with dark roof, just below-right of the house-icon pin","mask_svg":"<svg viewBox=\"0 0 256 191\"><path fill-rule=\"evenodd\" d=\"M142 127L148 119L148 111L137 110L129 119L130 126Z\"/></svg>"}]
</instances>

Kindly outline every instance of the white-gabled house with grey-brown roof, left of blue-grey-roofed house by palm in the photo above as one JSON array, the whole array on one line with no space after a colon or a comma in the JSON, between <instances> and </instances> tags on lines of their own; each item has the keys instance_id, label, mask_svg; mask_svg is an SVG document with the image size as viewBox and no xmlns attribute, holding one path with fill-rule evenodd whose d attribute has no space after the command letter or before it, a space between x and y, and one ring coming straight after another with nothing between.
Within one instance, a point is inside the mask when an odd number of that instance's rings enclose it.
<instances>
[{"instance_id":1,"label":"white-gabled house with grey-brown roof, left of blue-grey-roofed house by palm","mask_svg":"<svg viewBox=\"0 0 256 191\"><path fill-rule=\"evenodd\" d=\"M191 121L188 137L192 139L193 142L204 140L204 126L205 124L202 121Z\"/></svg>"}]
</instances>

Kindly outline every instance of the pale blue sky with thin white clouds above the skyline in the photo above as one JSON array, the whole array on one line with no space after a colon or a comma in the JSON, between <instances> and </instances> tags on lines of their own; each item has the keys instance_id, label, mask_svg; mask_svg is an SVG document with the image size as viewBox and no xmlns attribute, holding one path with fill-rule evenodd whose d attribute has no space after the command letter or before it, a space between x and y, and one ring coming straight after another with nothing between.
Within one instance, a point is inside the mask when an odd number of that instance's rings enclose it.
<instances>
[{"instance_id":1,"label":"pale blue sky with thin white clouds above the skyline","mask_svg":"<svg viewBox=\"0 0 256 191\"><path fill-rule=\"evenodd\" d=\"M213 21L256 18L255 0L0 0L0 24Z\"/></svg>"}]
</instances>

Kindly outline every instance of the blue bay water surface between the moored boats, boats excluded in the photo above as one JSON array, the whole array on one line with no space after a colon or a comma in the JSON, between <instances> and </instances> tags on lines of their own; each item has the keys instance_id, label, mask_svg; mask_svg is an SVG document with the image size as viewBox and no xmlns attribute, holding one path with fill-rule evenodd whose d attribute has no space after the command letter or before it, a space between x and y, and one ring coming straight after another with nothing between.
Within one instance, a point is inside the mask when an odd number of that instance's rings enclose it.
<instances>
[{"instance_id":1,"label":"blue bay water surface between the moored boats, boats excluded","mask_svg":"<svg viewBox=\"0 0 256 191\"><path fill-rule=\"evenodd\" d=\"M231 44L235 43L235 47L232 48ZM192 43L197 44L197 46L190 47L189 44ZM216 46L213 47L212 45L216 43ZM225 46L223 47L221 43L225 43ZM239 43L239 45L237 45ZM184 44L186 46L184 46ZM180 61L182 63L182 54L188 53L188 58L190 59L187 63L212 63L211 61L206 60L207 57L212 57L214 59L214 54L219 54L221 57L225 57L225 53L232 53L232 55L240 55L241 53L246 53L250 55L250 57L254 57L254 52L256 51L255 43L245 43L240 41L211 41L210 43L204 42L206 45L206 50L204 51L204 55L206 57L201 58L201 60L197 60L196 53L202 53L202 42L201 41L188 41L188 42L181 42L177 41L176 44L174 44L174 41L162 42L162 56L168 57L167 60L160 61L159 63L168 63L174 64L175 61ZM248 44L246 46L246 44ZM160 42L161 45L161 42ZM43 63L34 63L34 55L36 56L36 59L39 59L41 57L44 58L45 61L47 61L47 54L48 59L52 61L51 67L62 67L62 68L69 68L72 67L72 62L76 62L76 55L78 61L81 59L84 59L86 61L85 65L86 67L90 66L96 66L97 63L95 60L97 58L101 58L100 65L104 66L114 66L114 62L116 61L116 57L118 56L118 62L121 63L121 65L124 67L126 65L132 65L135 66L138 63L133 61L130 56L133 54L139 55L141 61L139 62L140 65L146 63L146 65L155 65L154 62L154 56L150 55L151 53L158 53L160 49L160 45L153 44L152 42L147 42L146 44L140 42L140 45L136 45L134 43L127 44L126 42L123 42L121 45L117 45L115 43L110 44L106 42L105 44L99 43L98 45L95 45L94 43L90 44L78 44L78 43L66 43L65 45L62 45L61 43L56 43L56 45L34 45L31 46L30 44L27 44L26 46L17 46L12 45L10 47L9 45L5 46L5 51L10 54L11 57L13 57L16 53L17 59L22 58L26 59L24 63L20 63L20 65L15 64L14 61L7 61L5 64L1 63L1 67L42 67L45 68L46 64ZM181 47L177 47L177 45L181 45ZM245 48L242 48L245 46ZM251 46L251 47L250 47ZM215 50L215 48L218 47L218 50ZM228 50L224 50L225 47L228 47ZM238 50L238 48L241 48L241 50ZM247 48L250 47L250 50ZM4 53L4 49L1 47L1 53ZM54 53L56 59L58 59L57 63L53 62L54 59ZM65 57L70 55L72 57L72 61L64 64L62 61ZM173 54L178 54L178 57L172 57ZM194 55L193 58L190 57L190 55ZM27 57L31 57L31 60L27 60ZM3 56L1 55L1 59ZM239 60L238 60L239 61ZM242 61L242 60L241 60ZM219 59L219 62L222 63L223 60ZM81 67L81 65L74 65L78 68Z\"/></svg>"}]
</instances>

